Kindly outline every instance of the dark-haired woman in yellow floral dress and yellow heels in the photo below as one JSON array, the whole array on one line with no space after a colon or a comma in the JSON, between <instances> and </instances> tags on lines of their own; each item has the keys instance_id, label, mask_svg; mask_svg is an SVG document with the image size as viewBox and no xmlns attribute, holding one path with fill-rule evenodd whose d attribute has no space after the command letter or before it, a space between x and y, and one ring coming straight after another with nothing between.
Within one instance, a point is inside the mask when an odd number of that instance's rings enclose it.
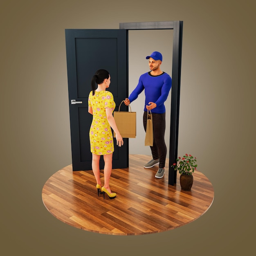
<instances>
[{"instance_id":1,"label":"dark-haired woman in yellow floral dress and yellow heels","mask_svg":"<svg viewBox=\"0 0 256 256\"><path fill-rule=\"evenodd\" d=\"M96 88L96 84L98 85ZM99 193L105 193L110 199L116 197L109 187L109 180L112 171L112 155L114 152L113 135L110 126L116 133L117 145L124 144L123 138L117 129L113 111L115 101L111 92L106 91L110 85L110 74L106 70L98 70L92 77L92 91L88 98L88 112L92 114L92 125L90 128L90 145L92 152L92 171L94 173ZM101 155L104 158L104 186L101 187L99 160Z\"/></svg>"}]
</instances>

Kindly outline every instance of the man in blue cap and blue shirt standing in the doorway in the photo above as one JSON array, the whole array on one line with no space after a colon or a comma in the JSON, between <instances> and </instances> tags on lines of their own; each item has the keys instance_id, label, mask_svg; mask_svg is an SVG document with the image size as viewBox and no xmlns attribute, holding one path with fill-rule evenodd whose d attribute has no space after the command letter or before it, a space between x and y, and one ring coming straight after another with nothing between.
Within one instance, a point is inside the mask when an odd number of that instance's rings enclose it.
<instances>
[{"instance_id":1,"label":"man in blue cap and blue shirt standing in the doorway","mask_svg":"<svg viewBox=\"0 0 256 256\"><path fill-rule=\"evenodd\" d=\"M132 101L137 99L139 94L145 89L145 107L143 115L143 125L146 131L147 110L151 110L153 119L153 146L150 146L152 157L145 168L151 168L159 163L159 169L155 174L156 178L164 177L164 167L166 160L166 144L164 141L165 133L165 106L169 91L171 90L172 79L167 73L162 72L160 65L162 64L162 54L153 52L150 56L146 56L150 71L139 77L137 87L132 91L130 96L125 99L124 103L128 106Z\"/></svg>"}]
</instances>

